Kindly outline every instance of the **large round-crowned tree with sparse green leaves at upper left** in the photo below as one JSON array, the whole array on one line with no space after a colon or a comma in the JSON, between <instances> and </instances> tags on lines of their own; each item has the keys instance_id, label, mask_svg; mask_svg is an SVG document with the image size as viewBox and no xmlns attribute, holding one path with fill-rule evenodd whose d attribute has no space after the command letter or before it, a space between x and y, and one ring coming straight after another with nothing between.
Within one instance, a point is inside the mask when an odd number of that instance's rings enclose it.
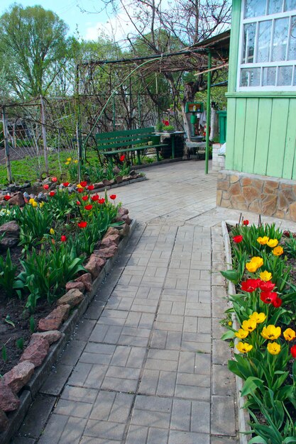
<instances>
[{"instance_id":1,"label":"large round-crowned tree with sparse green leaves at upper left","mask_svg":"<svg viewBox=\"0 0 296 444\"><path fill-rule=\"evenodd\" d=\"M42 6L13 4L0 18L0 61L11 93L46 95L67 55L67 25Z\"/></svg>"}]
</instances>

